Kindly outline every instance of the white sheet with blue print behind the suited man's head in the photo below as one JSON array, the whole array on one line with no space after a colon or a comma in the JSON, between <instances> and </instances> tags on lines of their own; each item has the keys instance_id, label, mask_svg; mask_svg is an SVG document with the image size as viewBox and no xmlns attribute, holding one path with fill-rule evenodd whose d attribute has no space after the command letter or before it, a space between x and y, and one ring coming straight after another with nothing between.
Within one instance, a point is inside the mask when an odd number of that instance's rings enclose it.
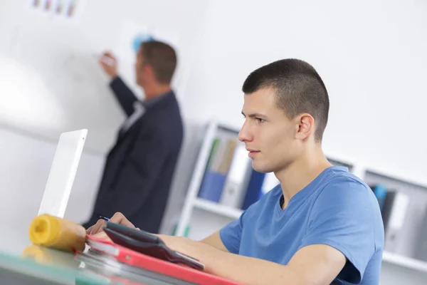
<instances>
[{"instance_id":1,"label":"white sheet with blue print behind the suited man's head","mask_svg":"<svg viewBox=\"0 0 427 285\"><path fill-rule=\"evenodd\" d=\"M179 35L174 31L159 27L139 24L132 21L124 21L120 26L117 37L117 45L113 49L119 61L119 71L122 78L132 88L139 98L143 98L141 88L136 84L135 60L139 46L144 41L163 41L171 45L177 52Z\"/></svg>"}]
</instances>

